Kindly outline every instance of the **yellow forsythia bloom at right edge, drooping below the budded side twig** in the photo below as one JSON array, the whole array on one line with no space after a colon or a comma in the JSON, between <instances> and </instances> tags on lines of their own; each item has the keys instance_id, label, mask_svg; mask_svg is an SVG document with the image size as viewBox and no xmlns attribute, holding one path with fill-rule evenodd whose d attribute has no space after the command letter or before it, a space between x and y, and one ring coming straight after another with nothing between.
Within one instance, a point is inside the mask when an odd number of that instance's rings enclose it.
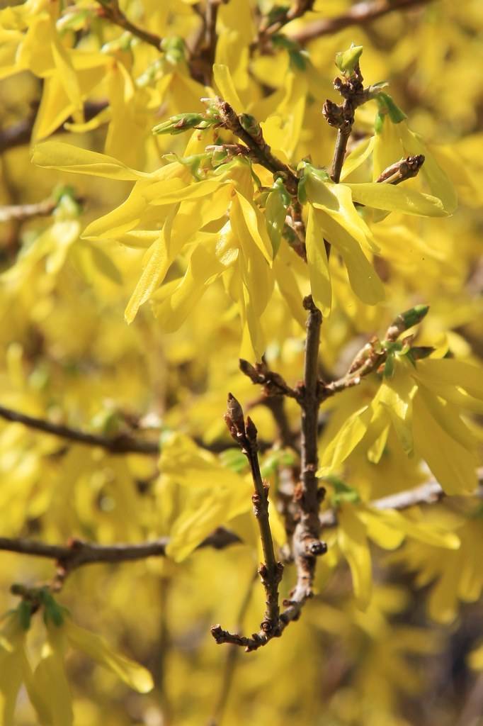
<instances>
[{"instance_id":1,"label":"yellow forsythia bloom at right edge, drooping below the budded side twig","mask_svg":"<svg viewBox=\"0 0 483 726\"><path fill-rule=\"evenodd\" d=\"M392 428L405 453L425 460L447 494L474 492L476 438L461 415L483 410L482 380L479 368L463 361L410 362L397 354L371 404L352 412L323 449L319 475L338 470L358 444L379 462Z\"/></svg>"}]
</instances>

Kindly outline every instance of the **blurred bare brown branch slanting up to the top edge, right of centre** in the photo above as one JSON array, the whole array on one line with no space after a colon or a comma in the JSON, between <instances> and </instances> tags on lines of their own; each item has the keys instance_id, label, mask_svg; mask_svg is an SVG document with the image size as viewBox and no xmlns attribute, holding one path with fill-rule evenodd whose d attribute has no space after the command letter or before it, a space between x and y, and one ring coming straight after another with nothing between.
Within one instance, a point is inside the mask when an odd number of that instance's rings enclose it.
<instances>
[{"instance_id":1,"label":"blurred bare brown branch slanting up to the top edge, right of centre","mask_svg":"<svg viewBox=\"0 0 483 726\"><path fill-rule=\"evenodd\" d=\"M337 33L338 30L350 27L350 25L367 25L382 15L387 15L393 10L407 10L411 7L425 5L430 0L374 0L373 2L359 2L353 5L344 15L337 17L324 17L321 20L314 20L295 33L288 33L289 38L300 45L304 45L315 38L329 36Z\"/></svg>"}]
</instances>

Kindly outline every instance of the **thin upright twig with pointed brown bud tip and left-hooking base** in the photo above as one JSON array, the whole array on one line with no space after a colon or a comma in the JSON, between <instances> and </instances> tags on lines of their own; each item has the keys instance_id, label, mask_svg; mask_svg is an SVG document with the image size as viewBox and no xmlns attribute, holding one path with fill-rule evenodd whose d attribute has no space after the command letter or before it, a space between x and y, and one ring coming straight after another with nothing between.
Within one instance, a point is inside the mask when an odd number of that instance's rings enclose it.
<instances>
[{"instance_id":1,"label":"thin upright twig with pointed brown bud tip and left-hooking base","mask_svg":"<svg viewBox=\"0 0 483 726\"><path fill-rule=\"evenodd\" d=\"M228 431L247 457L252 470L255 494L252 496L253 510L260 529L264 562L258 568L266 597L266 609L260 632L252 637L231 634L220 625L211 628L212 636L217 643L234 643L244 645L247 650L257 650L266 645L273 637L280 635L278 606L278 585L281 582L284 566L276 560L273 550L272 533L268 516L268 484L262 479L257 455L257 429L250 417L244 420L243 409L239 402L228 393L228 409L225 415Z\"/></svg>"}]
</instances>

